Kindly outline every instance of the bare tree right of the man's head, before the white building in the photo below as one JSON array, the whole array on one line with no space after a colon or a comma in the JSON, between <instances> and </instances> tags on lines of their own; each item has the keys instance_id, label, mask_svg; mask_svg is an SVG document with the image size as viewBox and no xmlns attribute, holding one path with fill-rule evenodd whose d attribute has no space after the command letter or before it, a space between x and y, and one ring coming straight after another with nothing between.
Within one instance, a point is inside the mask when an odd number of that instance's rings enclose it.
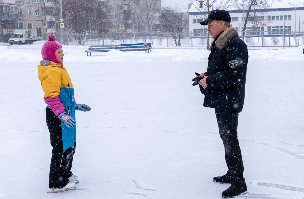
<instances>
[{"instance_id":1,"label":"bare tree right of the man's head, before the white building","mask_svg":"<svg viewBox=\"0 0 304 199\"><path fill-rule=\"evenodd\" d=\"M267 16L262 12L263 9L269 8L268 0L235 0L235 6L238 10L242 10L245 14L242 21L244 21L244 27L242 30L242 39L245 38L245 31L247 23L250 22L253 27L257 28L261 25L269 24Z\"/></svg>"}]
</instances>

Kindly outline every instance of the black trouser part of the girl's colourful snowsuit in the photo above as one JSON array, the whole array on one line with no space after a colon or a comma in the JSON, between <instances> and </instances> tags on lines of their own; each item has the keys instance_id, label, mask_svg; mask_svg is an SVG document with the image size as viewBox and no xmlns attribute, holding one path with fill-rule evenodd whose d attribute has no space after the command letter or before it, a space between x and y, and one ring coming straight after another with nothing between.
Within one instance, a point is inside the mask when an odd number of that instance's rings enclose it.
<instances>
[{"instance_id":1,"label":"black trouser part of the girl's colourful snowsuit","mask_svg":"<svg viewBox=\"0 0 304 199\"><path fill-rule=\"evenodd\" d=\"M61 120L54 114L50 108L46 108L47 127L50 131L52 150L52 159L50 164L50 188L62 188L69 183L73 156L75 153L76 142L74 147L69 147L63 152Z\"/></svg>"}]
</instances>

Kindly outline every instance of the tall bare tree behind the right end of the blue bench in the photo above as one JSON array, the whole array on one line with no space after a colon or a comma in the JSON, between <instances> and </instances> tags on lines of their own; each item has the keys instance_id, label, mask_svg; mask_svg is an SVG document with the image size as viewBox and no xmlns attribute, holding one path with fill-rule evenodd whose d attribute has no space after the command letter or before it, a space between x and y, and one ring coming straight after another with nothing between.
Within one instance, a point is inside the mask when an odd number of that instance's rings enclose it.
<instances>
[{"instance_id":1,"label":"tall bare tree behind the right end of the blue bench","mask_svg":"<svg viewBox=\"0 0 304 199\"><path fill-rule=\"evenodd\" d=\"M156 30L161 10L160 0L133 0L133 23L137 32Z\"/></svg>"}]
</instances>

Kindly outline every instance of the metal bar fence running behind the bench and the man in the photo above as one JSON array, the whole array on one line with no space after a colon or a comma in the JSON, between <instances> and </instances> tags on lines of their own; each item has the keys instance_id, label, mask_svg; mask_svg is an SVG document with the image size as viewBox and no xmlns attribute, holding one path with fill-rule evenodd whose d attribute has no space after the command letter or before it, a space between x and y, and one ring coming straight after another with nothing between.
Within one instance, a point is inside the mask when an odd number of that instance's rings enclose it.
<instances>
[{"instance_id":1,"label":"metal bar fence running behind the bench and the man","mask_svg":"<svg viewBox=\"0 0 304 199\"><path fill-rule=\"evenodd\" d=\"M198 29L199 30L199 29ZM244 32L247 46L299 46L304 45L304 32ZM152 43L153 46L207 46L207 31L189 33L141 32L141 33L55 33L57 41L63 45L115 45L132 43ZM242 32L239 37L242 38ZM47 38L48 34L45 34ZM213 39L210 36L209 43Z\"/></svg>"}]
</instances>

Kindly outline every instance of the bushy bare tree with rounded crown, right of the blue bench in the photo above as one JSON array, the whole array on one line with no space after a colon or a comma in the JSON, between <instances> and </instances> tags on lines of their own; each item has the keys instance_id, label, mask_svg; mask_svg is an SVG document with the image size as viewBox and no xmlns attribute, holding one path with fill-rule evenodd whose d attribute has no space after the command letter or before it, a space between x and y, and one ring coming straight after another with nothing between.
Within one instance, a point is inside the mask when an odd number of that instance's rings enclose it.
<instances>
[{"instance_id":1,"label":"bushy bare tree with rounded crown, right of the blue bench","mask_svg":"<svg viewBox=\"0 0 304 199\"><path fill-rule=\"evenodd\" d=\"M170 32L175 45L181 46L182 32L188 25L188 18L181 11L166 7L161 9L161 31Z\"/></svg>"}]
</instances>

